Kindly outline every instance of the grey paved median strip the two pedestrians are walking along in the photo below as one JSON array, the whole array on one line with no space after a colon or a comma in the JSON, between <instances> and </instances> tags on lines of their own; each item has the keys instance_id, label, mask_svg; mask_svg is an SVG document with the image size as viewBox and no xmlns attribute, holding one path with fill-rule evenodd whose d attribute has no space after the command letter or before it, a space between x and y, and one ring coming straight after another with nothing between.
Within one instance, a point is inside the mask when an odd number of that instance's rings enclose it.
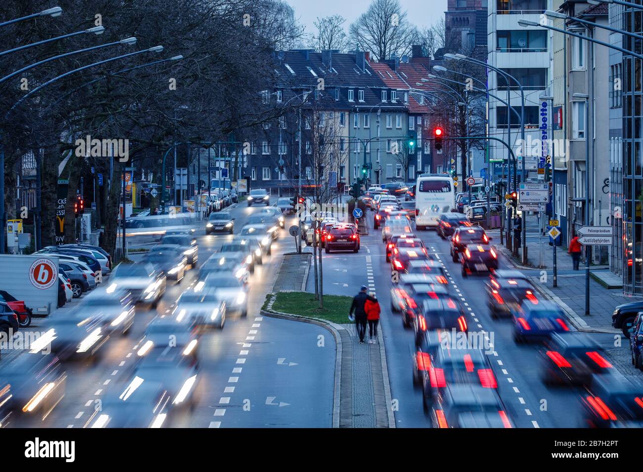
<instances>
[{"instance_id":1,"label":"grey paved median strip the two pedestrians are walking along","mask_svg":"<svg viewBox=\"0 0 643 472\"><path fill-rule=\"evenodd\" d=\"M273 292L303 292L311 263L310 253L284 256ZM337 345L333 425L338 428L395 428L386 353L381 329L377 344L359 344L355 325L336 324L272 310L266 316L310 322L329 329ZM365 368L367 367L367 368Z\"/></svg>"}]
</instances>

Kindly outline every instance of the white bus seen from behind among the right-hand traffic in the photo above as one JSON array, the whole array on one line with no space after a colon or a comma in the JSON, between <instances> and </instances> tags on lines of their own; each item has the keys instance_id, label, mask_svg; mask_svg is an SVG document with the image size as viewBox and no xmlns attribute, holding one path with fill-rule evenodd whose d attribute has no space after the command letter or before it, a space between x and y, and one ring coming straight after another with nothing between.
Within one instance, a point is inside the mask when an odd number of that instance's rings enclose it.
<instances>
[{"instance_id":1,"label":"white bus seen from behind among the right-hand traffic","mask_svg":"<svg viewBox=\"0 0 643 472\"><path fill-rule=\"evenodd\" d=\"M436 227L440 214L455 208L453 179L446 174L423 174L415 184L415 227Z\"/></svg>"}]
</instances>

